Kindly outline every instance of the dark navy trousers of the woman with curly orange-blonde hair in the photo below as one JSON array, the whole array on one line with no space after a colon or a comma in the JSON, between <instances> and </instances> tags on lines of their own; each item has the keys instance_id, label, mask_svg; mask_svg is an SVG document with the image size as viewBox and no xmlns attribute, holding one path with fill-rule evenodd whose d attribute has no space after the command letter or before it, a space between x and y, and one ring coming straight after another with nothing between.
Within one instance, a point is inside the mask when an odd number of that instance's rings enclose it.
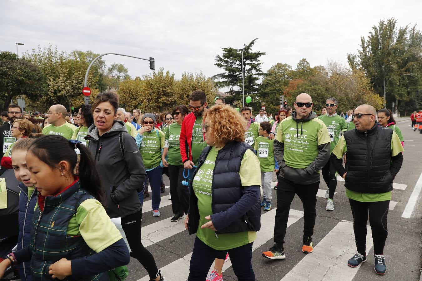
<instances>
[{"instance_id":1,"label":"dark navy trousers of the woman with curly orange-blonde hair","mask_svg":"<svg viewBox=\"0 0 422 281\"><path fill-rule=\"evenodd\" d=\"M252 244L253 242L227 250L232 262L233 271L238 280L255 281L255 273L252 269ZM196 237L187 280L204 281L207 278L208 270L219 252L221 251L211 248Z\"/></svg>"}]
</instances>

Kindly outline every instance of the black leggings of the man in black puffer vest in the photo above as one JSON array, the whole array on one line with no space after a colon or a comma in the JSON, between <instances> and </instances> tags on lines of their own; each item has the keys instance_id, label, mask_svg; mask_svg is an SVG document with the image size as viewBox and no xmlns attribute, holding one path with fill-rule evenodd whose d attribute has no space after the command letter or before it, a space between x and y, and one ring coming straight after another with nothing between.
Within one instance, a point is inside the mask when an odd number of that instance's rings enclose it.
<instances>
[{"instance_id":1,"label":"black leggings of the man in black puffer vest","mask_svg":"<svg viewBox=\"0 0 422 281\"><path fill-rule=\"evenodd\" d=\"M387 214L390 200L379 202L359 202L349 199L353 214L353 231L356 239L357 252L366 255L366 222L371 225L373 252L383 254L387 240Z\"/></svg>"}]
</instances>

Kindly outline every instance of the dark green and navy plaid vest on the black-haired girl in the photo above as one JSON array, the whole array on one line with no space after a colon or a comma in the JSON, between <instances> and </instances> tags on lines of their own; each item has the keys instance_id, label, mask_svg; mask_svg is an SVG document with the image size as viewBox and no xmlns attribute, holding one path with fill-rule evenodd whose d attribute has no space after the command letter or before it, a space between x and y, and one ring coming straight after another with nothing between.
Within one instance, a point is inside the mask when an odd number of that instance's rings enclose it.
<instances>
[{"instance_id":1,"label":"dark green and navy plaid vest on the black-haired girl","mask_svg":"<svg viewBox=\"0 0 422 281\"><path fill-rule=\"evenodd\" d=\"M37 195L37 202L40 194ZM56 196L46 196L44 209L38 206L32 217L30 239L32 279L52 280L49 267L61 258L74 260L95 254L88 247L82 236L68 236L67 229L71 219L76 214L79 205L94 198L82 189L79 181ZM100 280L107 278L107 273L90 276L84 280ZM63 280L74 280L68 276Z\"/></svg>"}]
</instances>

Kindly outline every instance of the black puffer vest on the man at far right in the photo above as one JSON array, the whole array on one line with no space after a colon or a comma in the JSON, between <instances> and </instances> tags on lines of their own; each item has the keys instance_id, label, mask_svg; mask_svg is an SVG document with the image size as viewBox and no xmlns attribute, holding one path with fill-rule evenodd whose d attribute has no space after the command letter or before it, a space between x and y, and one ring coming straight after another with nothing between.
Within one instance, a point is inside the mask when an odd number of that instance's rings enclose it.
<instances>
[{"instance_id":1,"label":"black puffer vest on the man at far right","mask_svg":"<svg viewBox=\"0 0 422 281\"><path fill-rule=\"evenodd\" d=\"M368 130L346 131L346 188L361 193L384 193L392 190L390 173L393 130L377 123Z\"/></svg>"}]
</instances>

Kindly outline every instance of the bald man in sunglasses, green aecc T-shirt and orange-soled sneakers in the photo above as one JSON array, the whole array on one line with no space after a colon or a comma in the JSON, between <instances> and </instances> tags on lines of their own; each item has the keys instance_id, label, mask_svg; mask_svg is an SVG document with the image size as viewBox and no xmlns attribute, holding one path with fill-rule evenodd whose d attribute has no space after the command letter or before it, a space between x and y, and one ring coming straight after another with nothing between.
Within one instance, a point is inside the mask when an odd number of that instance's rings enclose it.
<instances>
[{"instance_id":1,"label":"bald man in sunglasses, green aecc T-shirt and orange-soled sneakers","mask_svg":"<svg viewBox=\"0 0 422 281\"><path fill-rule=\"evenodd\" d=\"M330 137L327 126L312 113L312 98L306 93L296 97L296 112L280 123L274 140L274 155L279 163L277 209L274 225L274 246L262 256L285 259L283 244L286 236L290 204L297 194L303 204L303 253L314 251L319 170L330 158Z\"/></svg>"}]
</instances>

